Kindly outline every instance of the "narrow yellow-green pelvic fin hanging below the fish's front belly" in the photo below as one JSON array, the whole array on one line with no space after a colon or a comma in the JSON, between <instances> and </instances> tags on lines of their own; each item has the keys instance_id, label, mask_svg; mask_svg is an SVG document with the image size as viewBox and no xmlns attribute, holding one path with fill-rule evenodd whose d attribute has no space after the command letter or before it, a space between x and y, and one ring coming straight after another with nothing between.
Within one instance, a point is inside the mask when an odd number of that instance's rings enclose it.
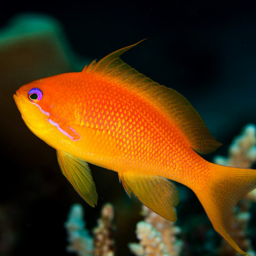
<instances>
[{"instance_id":1,"label":"narrow yellow-green pelvic fin hanging below the fish's front belly","mask_svg":"<svg viewBox=\"0 0 256 256\"><path fill-rule=\"evenodd\" d=\"M95 207L98 195L88 163L65 151L57 150L61 172L86 203Z\"/></svg>"}]
</instances>

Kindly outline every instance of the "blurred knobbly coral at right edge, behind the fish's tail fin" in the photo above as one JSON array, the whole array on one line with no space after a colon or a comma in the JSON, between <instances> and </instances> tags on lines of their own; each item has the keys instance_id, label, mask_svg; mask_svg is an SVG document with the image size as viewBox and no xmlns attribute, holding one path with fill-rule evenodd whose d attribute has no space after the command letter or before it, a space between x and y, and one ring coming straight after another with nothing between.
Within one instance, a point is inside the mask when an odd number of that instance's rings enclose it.
<instances>
[{"instance_id":1,"label":"blurred knobbly coral at right edge, behind the fish's tail fin","mask_svg":"<svg viewBox=\"0 0 256 256\"><path fill-rule=\"evenodd\" d=\"M250 168L256 161L256 126L247 124L241 135L237 136L228 150L228 157L215 156L216 164ZM237 244L248 254L255 255L252 244L247 238L248 222L251 218L249 208L256 201L256 189L244 197L235 207L230 221L230 231ZM223 240L218 255L240 255Z\"/></svg>"}]
</instances>

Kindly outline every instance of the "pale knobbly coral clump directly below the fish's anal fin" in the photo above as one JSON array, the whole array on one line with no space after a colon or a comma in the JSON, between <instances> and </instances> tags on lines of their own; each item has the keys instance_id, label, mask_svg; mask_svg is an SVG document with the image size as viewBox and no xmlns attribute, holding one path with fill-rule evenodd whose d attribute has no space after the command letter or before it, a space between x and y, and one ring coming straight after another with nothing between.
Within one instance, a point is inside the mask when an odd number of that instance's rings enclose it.
<instances>
[{"instance_id":1,"label":"pale knobbly coral clump directly below the fish's anal fin","mask_svg":"<svg viewBox=\"0 0 256 256\"><path fill-rule=\"evenodd\" d=\"M145 205L142 206L142 215L145 216L145 221L138 222L136 227L140 244L128 244L130 250L137 256L180 255L183 243L176 238L176 235L181 232L180 228L151 211Z\"/></svg>"}]
</instances>

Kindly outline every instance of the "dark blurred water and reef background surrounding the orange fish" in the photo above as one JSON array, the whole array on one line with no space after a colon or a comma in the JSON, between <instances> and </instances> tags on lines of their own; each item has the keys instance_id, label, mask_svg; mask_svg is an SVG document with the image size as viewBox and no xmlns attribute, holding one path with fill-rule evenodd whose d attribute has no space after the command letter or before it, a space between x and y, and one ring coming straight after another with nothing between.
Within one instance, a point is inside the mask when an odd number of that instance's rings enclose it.
<instances>
[{"instance_id":1,"label":"dark blurred water and reef background surrounding the orange fish","mask_svg":"<svg viewBox=\"0 0 256 256\"><path fill-rule=\"evenodd\" d=\"M112 204L110 241L111 246L115 241L115 255L134 255L130 243L141 249L134 244L139 234L136 225L144 220L146 210L143 217L141 203L135 197L129 199L117 173L90 165L98 205L92 208L84 203L61 174L55 150L24 124L12 95L23 84L81 71L90 61L144 38L148 40L124 53L122 59L190 101L211 134L223 143L205 159L225 164L225 159L216 160L216 156L227 156L233 138L245 125L256 124L255 1L2 1L0 255L76 255L66 250L67 224L64 227L75 203L84 209L88 230L95 230L102 207ZM253 129L248 130L251 135ZM253 155L254 149L250 150ZM252 158L249 162L256 169ZM222 238L193 192L179 184L178 188L180 204L173 232L182 248L174 255L231 255L223 249ZM256 221L250 216L256 216L256 204L245 204L236 209L235 218L246 222L239 234L248 236L250 242L244 246L255 251ZM245 214L240 216L239 209ZM149 232L148 227L144 223L143 230ZM95 232L86 234L92 237Z\"/></svg>"}]
</instances>

